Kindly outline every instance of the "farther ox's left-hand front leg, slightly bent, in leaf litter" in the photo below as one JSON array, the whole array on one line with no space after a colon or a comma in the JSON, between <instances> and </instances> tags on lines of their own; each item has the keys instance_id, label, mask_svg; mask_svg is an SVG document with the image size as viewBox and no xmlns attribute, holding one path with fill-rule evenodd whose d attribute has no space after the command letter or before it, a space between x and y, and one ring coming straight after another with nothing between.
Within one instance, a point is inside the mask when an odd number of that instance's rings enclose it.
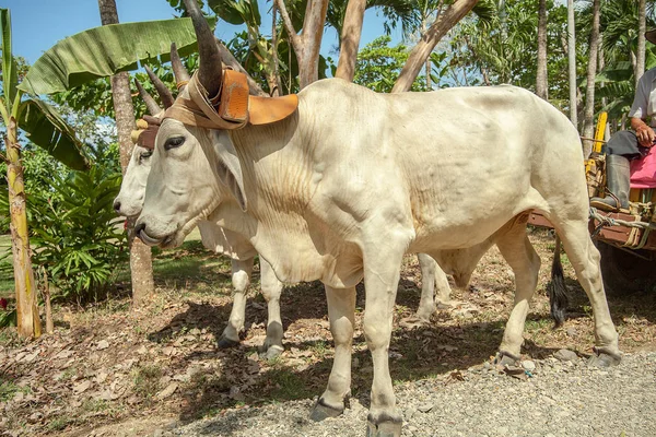
<instances>
[{"instance_id":1,"label":"farther ox's left-hand front leg, slightly bent, in leaf litter","mask_svg":"<svg viewBox=\"0 0 656 437\"><path fill-rule=\"evenodd\" d=\"M253 258L246 261L232 260L232 283L235 291L227 326L219 339L221 349L234 347L239 344L239 333L244 331L244 320L246 319L246 292L250 284L253 260Z\"/></svg>"}]
</instances>

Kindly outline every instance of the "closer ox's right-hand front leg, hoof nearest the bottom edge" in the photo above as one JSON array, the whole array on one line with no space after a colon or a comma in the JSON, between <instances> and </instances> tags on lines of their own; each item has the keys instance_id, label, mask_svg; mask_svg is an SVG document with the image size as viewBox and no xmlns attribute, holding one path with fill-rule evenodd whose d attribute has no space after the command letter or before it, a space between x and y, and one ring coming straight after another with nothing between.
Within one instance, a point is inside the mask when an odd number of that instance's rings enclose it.
<instances>
[{"instance_id":1,"label":"closer ox's right-hand front leg, hoof nearest the bottom edge","mask_svg":"<svg viewBox=\"0 0 656 437\"><path fill-rule=\"evenodd\" d=\"M396 398L389 376L389 342L394 304L399 283L402 251L364 256L364 335L374 364L372 403L367 417L367 436L398 437L402 417L396 409Z\"/></svg>"}]
</instances>

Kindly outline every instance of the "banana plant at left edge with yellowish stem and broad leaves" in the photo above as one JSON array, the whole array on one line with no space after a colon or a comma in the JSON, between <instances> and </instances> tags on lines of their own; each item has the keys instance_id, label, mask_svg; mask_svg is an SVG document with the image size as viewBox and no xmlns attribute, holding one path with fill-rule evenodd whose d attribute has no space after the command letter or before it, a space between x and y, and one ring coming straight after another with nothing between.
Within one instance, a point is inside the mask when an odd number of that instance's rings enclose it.
<instances>
[{"instance_id":1,"label":"banana plant at left edge with yellowish stem and broad leaves","mask_svg":"<svg viewBox=\"0 0 656 437\"><path fill-rule=\"evenodd\" d=\"M9 204L16 291L16 322L23 336L39 336L34 271L25 211L20 134L48 151L72 169L84 170L91 163L84 144L73 129L42 95L62 92L97 78L134 70L139 62L161 57L167 60L171 43L185 55L195 49L190 19L128 23L95 27L57 43L27 71L19 83L11 48L11 14L0 9L2 50L2 95L0 117L5 126Z\"/></svg>"}]
</instances>

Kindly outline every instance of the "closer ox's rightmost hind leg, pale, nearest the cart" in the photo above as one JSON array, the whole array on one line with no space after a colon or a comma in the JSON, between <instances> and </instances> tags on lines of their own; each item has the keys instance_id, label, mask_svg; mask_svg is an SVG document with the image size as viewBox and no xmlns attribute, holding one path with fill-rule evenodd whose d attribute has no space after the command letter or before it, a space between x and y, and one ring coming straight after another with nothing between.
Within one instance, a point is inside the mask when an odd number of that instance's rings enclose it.
<instances>
[{"instance_id":1,"label":"closer ox's rightmost hind leg, pale, nearest the cart","mask_svg":"<svg viewBox=\"0 0 656 437\"><path fill-rule=\"evenodd\" d=\"M585 290L593 307L596 354L590 358L590 364L600 367L617 365L621 361L618 333L606 302L599 264L601 258L588 234L587 220L560 221L553 216L549 218L561 237L578 282Z\"/></svg>"}]
</instances>

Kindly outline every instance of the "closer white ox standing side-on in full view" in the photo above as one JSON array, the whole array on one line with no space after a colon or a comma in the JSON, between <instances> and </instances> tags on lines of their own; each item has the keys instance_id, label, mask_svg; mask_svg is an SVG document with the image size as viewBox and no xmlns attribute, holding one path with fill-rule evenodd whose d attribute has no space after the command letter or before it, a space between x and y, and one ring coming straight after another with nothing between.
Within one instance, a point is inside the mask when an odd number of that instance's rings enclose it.
<instances>
[{"instance_id":1,"label":"closer white ox standing side-on in full view","mask_svg":"<svg viewBox=\"0 0 656 437\"><path fill-rule=\"evenodd\" d=\"M195 90L214 96L220 58L196 2L186 4L199 39ZM187 90L178 96L189 98ZM227 131L165 118L136 229L173 247L209 220L247 238L279 280L324 282L336 352L315 418L341 413L350 393L355 284L364 277L374 365L367 433L399 436L388 349L403 255L476 251L492 238L517 288L501 351L519 355L540 264L525 232L531 210L554 225L590 299L594 362L617 364L578 133L520 88L383 95L332 79L303 90L297 110L271 125Z\"/></svg>"}]
</instances>

